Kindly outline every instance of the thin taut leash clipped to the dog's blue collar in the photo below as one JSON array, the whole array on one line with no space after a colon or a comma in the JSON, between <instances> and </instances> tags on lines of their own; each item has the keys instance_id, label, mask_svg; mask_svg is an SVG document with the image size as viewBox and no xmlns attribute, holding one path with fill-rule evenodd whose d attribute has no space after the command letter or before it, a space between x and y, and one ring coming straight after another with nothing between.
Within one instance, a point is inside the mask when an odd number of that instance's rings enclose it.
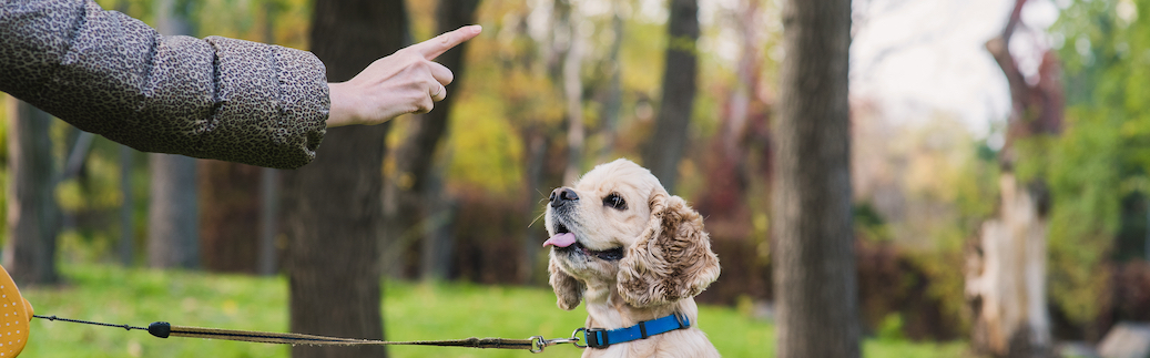
<instances>
[{"instance_id":1,"label":"thin taut leash clipped to the dog's blue collar","mask_svg":"<svg viewBox=\"0 0 1150 358\"><path fill-rule=\"evenodd\" d=\"M508 340L508 338L476 338L469 337L463 340L440 340L440 341L377 341L377 340L355 340L355 338L342 338L342 337L328 337L307 334L296 334L296 333L271 333L271 332L258 332L258 330L237 330L237 329L221 329L221 328L205 328L205 327L189 327L189 326L176 326L168 322L152 322L147 327L130 326L130 325L113 325L105 322L94 322L85 320L74 320L67 318L59 318L55 315L39 315L33 314L33 318L46 319L49 321L64 321L72 323L84 323L94 325L102 327L114 327L123 328L125 330L147 330L147 333L160 338L167 337L191 337L191 338L206 338L206 340L227 340L227 341L240 341L240 342L256 342L256 343L273 343L273 344L307 344L307 345L436 345L436 346L461 346L461 348L477 348L477 349L522 349L528 350L532 353L542 352L544 348L572 343L576 346L580 345L578 333L583 332L584 328L576 329L572 333L569 338L553 338L546 340L543 336L531 336L527 340Z\"/></svg>"}]
</instances>

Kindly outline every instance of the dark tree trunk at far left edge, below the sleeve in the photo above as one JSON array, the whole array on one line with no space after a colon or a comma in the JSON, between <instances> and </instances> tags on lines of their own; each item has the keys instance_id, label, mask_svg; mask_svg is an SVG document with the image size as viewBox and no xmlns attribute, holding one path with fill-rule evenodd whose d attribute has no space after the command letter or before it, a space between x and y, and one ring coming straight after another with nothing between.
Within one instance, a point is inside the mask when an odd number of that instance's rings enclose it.
<instances>
[{"instance_id":1,"label":"dark tree trunk at far left edge, below the sleeve","mask_svg":"<svg viewBox=\"0 0 1150 358\"><path fill-rule=\"evenodd\" d=\"M8 242L3 266L21 285L52 284L60 208L52 158L52 116L8 97Z\"/></svg>"}]
</instances>

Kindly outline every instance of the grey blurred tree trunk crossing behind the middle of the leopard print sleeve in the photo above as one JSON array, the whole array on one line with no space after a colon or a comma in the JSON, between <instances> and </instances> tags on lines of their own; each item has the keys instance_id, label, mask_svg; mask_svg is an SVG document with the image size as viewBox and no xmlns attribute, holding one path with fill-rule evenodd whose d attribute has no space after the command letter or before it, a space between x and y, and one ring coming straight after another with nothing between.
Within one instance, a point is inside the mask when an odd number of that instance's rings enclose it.
<instances>
[{"instance_id":1,"label":"grey blurred tree trunk crossing behind the middle of the leopard print sleeve","mask_svg":"<svg viewBox=\"0 0 1150 358\"><path fill-rule=\"evenodd\" d=\"M193 35L190 9L175 0L160 1L156 29L163 35ZM195 159L148 154L152 188L148 197L148 266L199 267L199 207Z\"/></svg>"}]
</instances>

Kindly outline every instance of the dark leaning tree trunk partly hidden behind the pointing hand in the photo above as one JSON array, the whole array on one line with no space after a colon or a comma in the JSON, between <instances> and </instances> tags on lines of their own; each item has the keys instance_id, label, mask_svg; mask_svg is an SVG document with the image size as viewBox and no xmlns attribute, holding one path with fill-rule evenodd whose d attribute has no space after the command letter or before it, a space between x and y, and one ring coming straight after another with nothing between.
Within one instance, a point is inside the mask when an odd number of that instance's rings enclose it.
<instances>
[{"instance_id":1,"label":"dark leaning tree trunk partly hidden behind the pointing hand","mask_svg":"<svg viewBox=\"0 0 1150 358\"><path fill-rule=\"evenodd\" d=\"M439 1L436 8L437 33L455 30L460 26L475 23L475 9L478 8L478 0L455 0ZM455 81L451 89L460 89L463 82L467 43L455 46L436 59L436 62L446 66L455 75ZM448 89L448 90L451 90ZM409 134L404 143L394 152L396 172L394 181L388 183L384 195L384 218L386 220L386 237L389 238L388 250L404 253L408 251L408 243L421 242L422 259L420 272L428 275L432 272L440 272L446 262L438 261L442 254L427 251L436 251L443 247L436 239L430 239L431 233L439 230L442 226L424 224L442 222L429 219L444 213L434 213L431 203L440 200L438 186L430 185L435 178L430 177L435 162L436 151L439 142L447 132L451 108L455 104L457 96L447 96L446 99L435 105L431 111L421 119L409 123ZM398 256L402 257L402 256ZM389 273L397 275L402 267L401 260L389 262ZM443 271L445 272L445 271ZM434 276L434 275L432 275Z\"/></svg>"}]
</instances>

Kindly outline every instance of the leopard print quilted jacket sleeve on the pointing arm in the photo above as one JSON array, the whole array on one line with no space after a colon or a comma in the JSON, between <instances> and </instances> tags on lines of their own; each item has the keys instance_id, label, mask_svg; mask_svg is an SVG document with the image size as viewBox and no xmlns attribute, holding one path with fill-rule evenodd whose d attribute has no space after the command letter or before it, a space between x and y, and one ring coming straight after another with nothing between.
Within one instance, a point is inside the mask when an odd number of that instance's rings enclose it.
<instances>
[{"instance_id":1,"label":"leopard print quilted jacket sleeve on the pointing arm","mask_svg":"<svg viewBox=\"0 0 1150 358\"><path fill-rule=\"evenodd\" d=\"M330 108L312 53L161 36L91 0L0 0L0 91L140 151L273 168L315 158Z\"/></svg>"}]
</instances>

